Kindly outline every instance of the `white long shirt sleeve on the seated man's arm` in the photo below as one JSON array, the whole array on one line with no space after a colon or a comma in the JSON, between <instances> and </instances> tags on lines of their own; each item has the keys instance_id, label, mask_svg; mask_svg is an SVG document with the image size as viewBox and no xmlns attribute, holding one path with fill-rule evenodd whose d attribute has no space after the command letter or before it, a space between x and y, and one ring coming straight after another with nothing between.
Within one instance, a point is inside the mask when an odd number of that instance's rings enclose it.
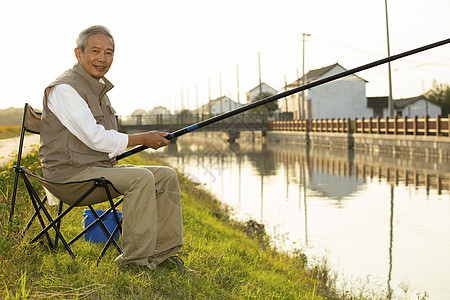
<instances>
[{"instance_id":1,"label":"white long shirt sleeve on the seated man's arm","mask_svg":"<svg viewBox=\"0 0 450 300\"><path fill-rule=\"evenodd\" d=\"M128 135L97 124L86 101L70 85L53 87L47 104L59 121L89 148L108 153L110 158L125 152Z\"/></svg>"}]
</instances>

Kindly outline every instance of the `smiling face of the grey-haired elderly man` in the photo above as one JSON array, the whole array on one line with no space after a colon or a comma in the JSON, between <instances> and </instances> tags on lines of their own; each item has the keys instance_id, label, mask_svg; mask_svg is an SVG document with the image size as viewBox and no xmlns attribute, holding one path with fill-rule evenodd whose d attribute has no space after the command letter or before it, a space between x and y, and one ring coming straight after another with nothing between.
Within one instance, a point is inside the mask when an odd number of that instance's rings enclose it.
<instances>
[{"instance_id":1,"label":"smiling face of the grey-haired elderly man","mask_svg":"<svg viewBox=\"0 0 450 300\"><path fill-rule=\"evenodd\" d=\"M83 69L93 78L99 80L108 72L113 62L112 40L102 33L90 35L84 52L75 48L75 56Z\"/></svg>"}]
</instances>

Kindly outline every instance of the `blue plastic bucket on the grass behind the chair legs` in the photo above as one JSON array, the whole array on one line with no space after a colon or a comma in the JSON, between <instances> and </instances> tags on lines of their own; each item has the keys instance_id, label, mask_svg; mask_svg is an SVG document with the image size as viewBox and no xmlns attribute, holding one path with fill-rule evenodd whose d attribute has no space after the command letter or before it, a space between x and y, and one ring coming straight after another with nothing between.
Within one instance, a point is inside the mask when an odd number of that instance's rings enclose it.
<instances>
[{"instance_id":1,"label":"blue plastic bucket on the grass behind the chair legs","mask_svg":"<svg viewBox=\"0 0 450 300\"><path fill-rule=\"evenodd\" d=\"M95 211L99 216L101 216L105 211L104 210L96 210ZM119 219L122 218L122 212L117 211L117 215ZM83 213L83 221L84 228L88 227L92 222L95 221L95 216L89 209L85 209ZM104 218L102 218L103 223L105 223L106 228L108 228L110 233L113 233L114 229L117 226L116 219L114 218L114 213L109 212ZM117 241L119 239L119 232L114 235L114 239ZM91 229L86 231L84 234L84 239L88 242L91 241L93 243L106 243L108 241L108 236L100 227L100 224L95 224Z\"/></svg>"}]
</instances>

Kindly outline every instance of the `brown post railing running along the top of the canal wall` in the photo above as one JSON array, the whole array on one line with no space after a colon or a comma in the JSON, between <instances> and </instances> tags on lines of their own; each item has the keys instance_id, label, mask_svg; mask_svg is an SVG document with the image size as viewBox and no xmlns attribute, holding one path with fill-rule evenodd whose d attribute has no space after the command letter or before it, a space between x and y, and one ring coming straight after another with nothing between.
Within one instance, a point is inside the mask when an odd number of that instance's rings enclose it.
<instances>
[{"instance_id":1,"label":"brown post railing running along the top of the canal wall","mask_svg":"<svg viewBox=\"0 0 450 300\"><path fill-rule=\"evenodd\" d=\"M342 132L364 134L449 136L450 118L439 115L424 118L355 118L269 121L267 129L273 131Z\"/></svg>"}]
</instances>

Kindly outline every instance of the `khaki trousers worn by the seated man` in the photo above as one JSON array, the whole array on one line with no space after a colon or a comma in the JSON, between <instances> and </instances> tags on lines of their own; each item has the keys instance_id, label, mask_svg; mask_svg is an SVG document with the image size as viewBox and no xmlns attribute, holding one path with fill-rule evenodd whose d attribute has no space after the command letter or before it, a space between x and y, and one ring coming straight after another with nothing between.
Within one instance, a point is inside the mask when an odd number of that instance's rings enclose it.
<instances>
[{"instance_id":1,"label":"khaki trousers worn by the seated man","mask_svg":"<svg viewBox=\"0 0 450 300\"><path fill-rule=\"evenodd\" d=\"M183 245L180 188L168 167L120 165L90 167L70 181L105 177L124 195L120 260L147 265L161 263Z\"/></svg>"}]
</instances>

